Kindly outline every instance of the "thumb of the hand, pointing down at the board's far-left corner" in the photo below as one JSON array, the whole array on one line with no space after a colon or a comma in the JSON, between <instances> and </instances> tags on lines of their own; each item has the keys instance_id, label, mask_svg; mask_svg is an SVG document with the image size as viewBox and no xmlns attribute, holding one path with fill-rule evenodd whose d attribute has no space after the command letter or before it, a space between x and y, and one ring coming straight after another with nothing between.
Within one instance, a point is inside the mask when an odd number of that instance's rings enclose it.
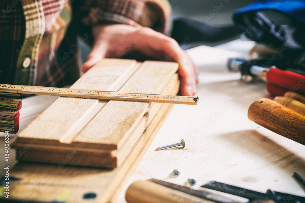
<instances>
[{"instance_id":1,"label":"thumb of the hand, pointing down at the board's far-left corner","mask_svg":"<svg viewBox=\"0 0 305 203\"><path fill-rule=\"evenodd\" d=\"M93 46L90 54L87 56L86 61L84 62L81 70L85 73L92 66L94 66L98 61L105 57L106 47L104 46Z\"/></svg>"}]
</instances>

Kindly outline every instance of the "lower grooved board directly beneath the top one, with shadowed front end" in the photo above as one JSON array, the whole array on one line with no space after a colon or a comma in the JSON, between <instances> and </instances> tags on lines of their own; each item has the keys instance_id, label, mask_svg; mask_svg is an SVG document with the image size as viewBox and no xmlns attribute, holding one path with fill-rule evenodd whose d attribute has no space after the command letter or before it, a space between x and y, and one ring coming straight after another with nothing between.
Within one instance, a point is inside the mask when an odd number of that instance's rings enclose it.
<instances>
[{"instance_id":1,"label":"lower grooved board directly beneath the top one, with shadowed front end","mask_svg":"<svg viewBox=\"0 0 305 203\"><path fill-rule=\"evenodd\" d=\"M161 93L176 94L178 91L173 92L172 90L177 88L177 86L179 87L178 74L174 74L172 78L167 82L167 85L163 88ZM137 142L138 138L150 124L153 117L160 110L161 106L162 103L150 104L148 110L145 112L145 115L141 118L141 121L137 124L135 130L132 132L131 136L128 137L128 140L124 143L120 150L89 150L87 148L81 148L81 146L86 145L85 143L83 145L75 145L74 148L46 148L44 145L34 145L31 149L29 149L30 153L23 154L23 157L19 157L20 155L17 153L17 157L24 161L35 160L37 162L63 165L85 165L108 168L118 167L124 162L126 156L128 156L128 153L130 152L131 147L134 147L135 142ZM22 145L19 146L19 148L22 148ZM71 154L73 151L75 152ZM69 159L69 161L66 162L63 159ZM59 165L59 167L61 167L61 165Z\"/></svg>"}]
</instances>

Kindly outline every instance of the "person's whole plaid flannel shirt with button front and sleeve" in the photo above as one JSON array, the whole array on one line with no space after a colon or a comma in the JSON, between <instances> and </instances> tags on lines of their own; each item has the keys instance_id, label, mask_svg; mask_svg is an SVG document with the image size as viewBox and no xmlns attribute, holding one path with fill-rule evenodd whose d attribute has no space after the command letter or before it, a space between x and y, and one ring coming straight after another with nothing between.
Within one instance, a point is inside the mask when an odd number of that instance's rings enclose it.
<instances>
[{"instance_id":1,"label":"person's whole plaid flannel shirt with button front and sleeve","mask_svg":"<svg viewBox=\"0 0 305 203\"><path fill-rule=\"evenodd\" d=\"M0 81L5 84L74 83L82 63L78 48L93 41L93 25L169 29L167 0L1 0L0 8Z\"/></svg>"}]
</instances>

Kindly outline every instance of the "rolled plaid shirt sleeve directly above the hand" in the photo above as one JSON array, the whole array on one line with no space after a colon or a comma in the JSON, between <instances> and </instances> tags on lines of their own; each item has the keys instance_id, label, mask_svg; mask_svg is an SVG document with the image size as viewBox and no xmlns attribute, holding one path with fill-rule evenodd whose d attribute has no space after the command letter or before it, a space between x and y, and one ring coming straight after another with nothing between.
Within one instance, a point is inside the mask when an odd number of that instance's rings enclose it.
<instances>
[{"instance_id":1,"label":"rolled plaid shirt sleeve directly above the hand","mask_svg":"<svg viewBox=\"0 0 305 203\"><path fill-rule=\"evenodd\" d=\"M122 23L168 34L171 6L167 0L86 0L78 17L84 26Z\"/></svg>"}]
</instances>

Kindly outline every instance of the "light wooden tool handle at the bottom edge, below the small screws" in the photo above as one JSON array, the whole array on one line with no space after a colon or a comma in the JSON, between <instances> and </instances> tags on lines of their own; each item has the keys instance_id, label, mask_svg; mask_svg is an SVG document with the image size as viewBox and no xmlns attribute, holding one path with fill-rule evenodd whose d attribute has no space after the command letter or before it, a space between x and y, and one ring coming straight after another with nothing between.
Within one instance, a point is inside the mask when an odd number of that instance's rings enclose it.
<instances>
[{"instance_id":1,"label":"light wooden tool handle at the bottom edge, below the small screws","mask_svg":"<svg viewBox=\"0 0 305 203\"><path fill-rule=\"evenodd\" d=\"M178 190L153 183L149 180L139 180L131 184L125 194L127 203L214 203Z\"/></svg>"}]
</instances>

